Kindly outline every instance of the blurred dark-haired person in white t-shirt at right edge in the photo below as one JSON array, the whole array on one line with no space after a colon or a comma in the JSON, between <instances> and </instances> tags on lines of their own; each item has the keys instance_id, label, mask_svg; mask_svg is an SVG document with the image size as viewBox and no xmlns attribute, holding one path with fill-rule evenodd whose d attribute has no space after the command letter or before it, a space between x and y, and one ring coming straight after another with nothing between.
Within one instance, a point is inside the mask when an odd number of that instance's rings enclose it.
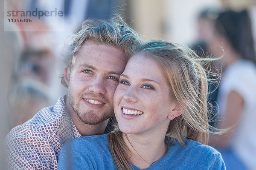
<instances>
[{"instance_id":1,"label":"blurred dark-haired person in white t-shirt at right edge","mask_svg":"<svg viewBox=\"0 0 256 170\"><path fill-rule=\"evenodd\" d=\"M256 169L256 52L247 11L223 11L215 21L211 50L223 55L217 127L210 144L222 154L227 170ZM218 46L219 45L219 46Z\"/></svg>"}]
</instances>

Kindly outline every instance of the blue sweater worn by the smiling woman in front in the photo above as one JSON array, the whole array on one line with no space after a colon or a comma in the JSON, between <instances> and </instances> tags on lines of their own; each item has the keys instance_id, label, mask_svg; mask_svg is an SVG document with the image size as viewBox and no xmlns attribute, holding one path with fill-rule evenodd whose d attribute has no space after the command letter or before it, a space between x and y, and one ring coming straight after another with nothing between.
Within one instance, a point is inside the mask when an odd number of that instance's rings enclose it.
<instances>
[{"instance_id":1,"label":"blue sweater worn by the smiling woman in front","mask_svg":"<svg viewBox=\"0 0 256 170\"><path fill-rule=\"evenodd\" d=\"M166 154L144 170L226 170L221 154L192 140L168 142ZM140 168L132 165L134 170ZM109 147L108 134L72 139L59 154L58 170L117 170Z\"/></svg>"}]
</instances>

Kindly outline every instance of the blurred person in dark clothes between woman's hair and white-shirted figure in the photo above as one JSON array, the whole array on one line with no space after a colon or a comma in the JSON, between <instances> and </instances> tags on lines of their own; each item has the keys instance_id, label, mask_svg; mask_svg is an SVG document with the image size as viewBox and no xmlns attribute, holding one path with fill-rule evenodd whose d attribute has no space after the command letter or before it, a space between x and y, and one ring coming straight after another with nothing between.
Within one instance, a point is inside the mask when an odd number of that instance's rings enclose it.
<instances>
[{"instance_id":1,"label":"blurred person in dark clothes between woman's hair and white-shirted figure","mask_svg":"<svg viewBox=\"0 0 256 170\"><path fill-rule=\"evenodd\" d=\"M218 8L206 8L198 15L198 40L190 46L201 58L206 58L210 55L208 43L209 40L212 40L212 37L214 36L213 26L219 12L220 10ZM209 112L209 125L213 127L215 127L215 121L218 115L216 100L218 96L218 84L220 82L218 74L221 70L217 64L218 62L212 61L205 65L205 67L211 71L211 73L208 74L212 81L208 82L209 95L207 100L208 108L211 110Z\"/></svg>"}]
</instances>

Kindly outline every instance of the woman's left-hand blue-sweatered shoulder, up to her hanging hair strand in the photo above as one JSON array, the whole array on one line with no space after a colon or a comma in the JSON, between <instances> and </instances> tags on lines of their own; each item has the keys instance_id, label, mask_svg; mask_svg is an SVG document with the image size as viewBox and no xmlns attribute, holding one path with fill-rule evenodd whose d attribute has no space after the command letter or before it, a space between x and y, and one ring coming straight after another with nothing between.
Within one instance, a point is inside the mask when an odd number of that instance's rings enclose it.
<instances>
[{"instance_id":1,"label":"woman's left-hand blue-sweatered shoulder, up to her hanging hair strand","mask_svg":"<svg viewBox=\"0 0 256 170\"><path fill-rule=\"evenodd\" d=\"M59 154L60 170L114 170L115 164L108 147L108 134L84 136L64 144Z\"/></svg>"}]
</instances>

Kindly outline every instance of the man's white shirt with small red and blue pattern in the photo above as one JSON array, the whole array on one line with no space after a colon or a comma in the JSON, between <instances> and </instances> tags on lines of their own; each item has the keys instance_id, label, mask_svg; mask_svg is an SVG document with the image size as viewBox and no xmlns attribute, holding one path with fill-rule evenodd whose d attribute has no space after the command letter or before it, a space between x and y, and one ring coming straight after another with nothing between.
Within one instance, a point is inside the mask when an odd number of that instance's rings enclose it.
<instances>
[{"instance_id":1,"label":"man's white shirt with small red and blue pattern","mask_svg":"<svg viewBox=\"0 0 256 170\"><path fill-rule=\"evenodd\" d=\"M64 96L54 106L41 109L6 137L9 170L57 170L58 154L70 139L81 137L72 122Z\"/></svg>"}]
</instances>

